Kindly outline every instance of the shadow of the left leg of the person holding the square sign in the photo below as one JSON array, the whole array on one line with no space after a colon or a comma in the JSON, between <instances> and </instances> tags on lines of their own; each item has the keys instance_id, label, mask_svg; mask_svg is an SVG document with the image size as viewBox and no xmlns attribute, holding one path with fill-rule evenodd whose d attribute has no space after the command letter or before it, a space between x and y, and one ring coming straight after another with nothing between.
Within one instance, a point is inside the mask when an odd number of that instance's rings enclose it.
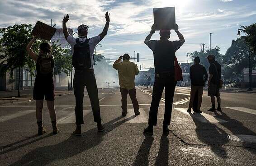
<instances>
[{"instance_id":1,"label":"shadow of the left leg of the person holding the square sign","mask_svg":"<svg viewBox=\"0 0 256 166\"><path fill-rule=\"evenodd\" d=\"M144 134L145 139L143 140L138 152L133 166L148 166L148 157L150 148L152 146L154 138L152 135Z\"/></svg>"}]
</instances>

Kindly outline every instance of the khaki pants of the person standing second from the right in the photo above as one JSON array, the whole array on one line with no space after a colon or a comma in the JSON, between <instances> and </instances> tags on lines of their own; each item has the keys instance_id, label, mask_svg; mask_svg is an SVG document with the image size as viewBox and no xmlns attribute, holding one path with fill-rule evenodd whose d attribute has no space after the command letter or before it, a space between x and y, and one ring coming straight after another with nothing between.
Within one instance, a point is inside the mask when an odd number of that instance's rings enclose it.
<instances>
[{"instance_id":1,"label":"khaki pants of the person standing second from the right","mask_svg":"<svg viewBox=\"0 0 256 166\"><path fill-rule=\"evenodd\" d=\"M198 92L197 110L200 110L201 104L202 104L203 90L204 90L203 86L191 85L189 110L191 110L191 108L193 106L194 97L195 97L196 92Z\"/></svg>"}]
</instances>

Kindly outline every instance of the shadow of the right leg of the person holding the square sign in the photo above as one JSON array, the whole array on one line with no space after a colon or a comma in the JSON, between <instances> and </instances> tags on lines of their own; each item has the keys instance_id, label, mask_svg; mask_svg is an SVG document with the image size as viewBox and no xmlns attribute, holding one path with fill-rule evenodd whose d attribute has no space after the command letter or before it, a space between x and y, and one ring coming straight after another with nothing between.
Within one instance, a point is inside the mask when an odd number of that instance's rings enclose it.
<instances>
[{"instance_id":1,"label":"shadow of the right leg of the person holding the square sign","mask_svg":"<svg viewBox=\"0 0 256 166\"><path fill-rule=\"evenodd\" d=\"M169 139L167 135L162 135L160 148L156 157L155 166L168 166L169 161Z\"/></svg>"}]
</instances>

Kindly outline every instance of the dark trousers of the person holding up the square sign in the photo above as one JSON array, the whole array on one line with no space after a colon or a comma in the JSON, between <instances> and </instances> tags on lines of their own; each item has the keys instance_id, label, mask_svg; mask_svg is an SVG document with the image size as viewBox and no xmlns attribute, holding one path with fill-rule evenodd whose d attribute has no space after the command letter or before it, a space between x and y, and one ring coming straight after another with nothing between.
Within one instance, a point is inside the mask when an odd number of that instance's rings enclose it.
<instances>
[{"instance_id":1,"label":"dark trousers of the person holding up the square sign","mask_svg":"<svg viewBox=\"0 0 256 166\"><path fill-rule=\"evenodd\" d=\"M171 74L156 74L155 83L152 93L152 101L149 110L148 124L155 125L157 122L157 112L159 102L161 101L162 92L165 88L165 115L163 125L170 125L171 123L171 110L176 86L174 76Z\"/></svg>"}]
</instances>

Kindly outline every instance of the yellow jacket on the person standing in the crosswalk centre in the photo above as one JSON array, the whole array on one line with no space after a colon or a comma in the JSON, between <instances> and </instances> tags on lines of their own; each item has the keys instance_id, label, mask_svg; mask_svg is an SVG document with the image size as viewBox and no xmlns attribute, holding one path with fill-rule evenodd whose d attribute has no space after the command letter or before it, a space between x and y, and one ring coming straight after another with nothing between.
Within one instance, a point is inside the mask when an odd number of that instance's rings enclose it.
<instances>
[{"instance_id":1,"label":"yellow jacket on the person standing in the crosswalk centre","mask_svg":"<svg viewBox=\"0 0 256 166\"><path fill-rule=\"evenodd\" d=\"M137 65L129 60L123 60L123 62L114 62L113 68L118 71L119 85L121 88L127 90L135 88L135 75L139 74Z\"/></svg>"}]
</instances>

